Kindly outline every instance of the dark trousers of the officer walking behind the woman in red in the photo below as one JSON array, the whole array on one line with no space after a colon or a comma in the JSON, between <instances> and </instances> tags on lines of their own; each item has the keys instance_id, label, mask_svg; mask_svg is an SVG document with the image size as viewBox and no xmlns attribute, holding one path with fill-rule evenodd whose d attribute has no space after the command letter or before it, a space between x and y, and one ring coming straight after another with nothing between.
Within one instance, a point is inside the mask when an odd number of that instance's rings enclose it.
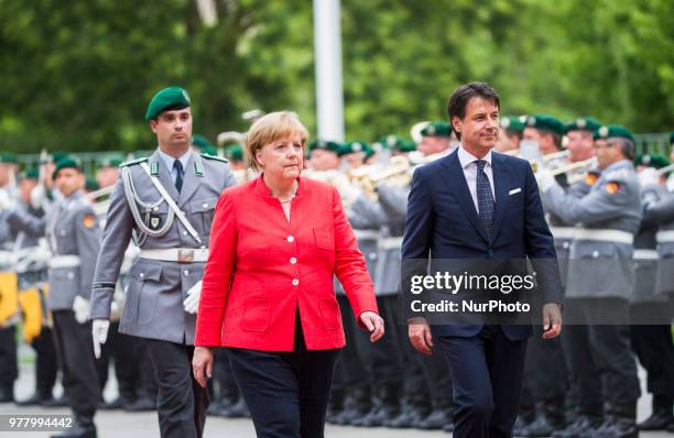
<instances>
[{"instance_id":1,"label":"dark trousers of the officer walking behind the woman in red","mask_svg":"<svg viewBox=\"0 0 674 438\"><path fill-rule=\"evenodd\" d=\"M156 374L156 410L162 438L202 437L208 408L208 390L192 374L194 347L145 339Z\"/></svg>"}]
</instances>

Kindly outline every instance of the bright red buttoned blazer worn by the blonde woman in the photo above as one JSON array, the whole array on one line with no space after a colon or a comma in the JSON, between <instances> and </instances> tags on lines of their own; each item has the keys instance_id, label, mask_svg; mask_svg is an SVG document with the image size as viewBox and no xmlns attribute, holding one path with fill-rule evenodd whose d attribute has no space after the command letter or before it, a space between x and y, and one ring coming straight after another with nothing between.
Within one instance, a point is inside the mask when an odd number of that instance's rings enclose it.
<instances>
[{"instance_id":1,"label":"bright red buttoned blazer worn by the blonde woman","mask_svg":"<svg viewBox=\"0 0 674 438\"><path fill-rule=\"evenodd\" d=\"M344 347L334 274L359 325L360 314L378 311L334 187L301 177L290 222L262 177L226 189L210 230L194 344L293 351L298 306L307 349Z\"/></svg>"}]
</instances>

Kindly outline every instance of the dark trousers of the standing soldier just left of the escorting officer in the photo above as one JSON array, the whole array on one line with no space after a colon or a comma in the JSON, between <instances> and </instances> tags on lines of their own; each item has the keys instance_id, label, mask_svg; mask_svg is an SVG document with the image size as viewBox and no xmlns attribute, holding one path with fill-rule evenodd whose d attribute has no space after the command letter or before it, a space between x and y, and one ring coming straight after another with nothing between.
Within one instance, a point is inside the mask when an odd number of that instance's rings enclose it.
<instances>
[{"instance_id":1,"label":"dark trousers of the standing soldier just left of the escorting officer","mask_svg":"<svg viewBox=\"0 0 674 438\"><path fill-rule=\"evenodd\" d=\"M63 385L76 419L88 423L100 399L91 324L79 324L73 310L54 310L54 344L63 371Z\"/></svg>"}]
</instances>

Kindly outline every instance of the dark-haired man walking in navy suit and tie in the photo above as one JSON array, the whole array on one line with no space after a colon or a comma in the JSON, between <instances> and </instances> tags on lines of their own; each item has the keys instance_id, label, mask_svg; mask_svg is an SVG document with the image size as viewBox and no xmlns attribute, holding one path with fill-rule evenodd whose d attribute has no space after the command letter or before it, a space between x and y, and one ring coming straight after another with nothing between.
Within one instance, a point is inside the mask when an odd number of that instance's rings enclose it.
<instances>
[{"instance_id":1,"label":"dark-haired man walking in navy suit and tie","mask_svg":"<svg viewBox=\"0 0 674 438\"><path fill-rule=\"evenodd\" d=\"M483 83L464 85L452 95L449 121L461 145L414 173L403 263L418 264L430 253L434 263L530 260L544 303L543 337L552 339L562 329L553 237L529 162L491 152L499 107L498 94ZM532 326L491 324L490 315L478 318L471 324L434 324L433 329L426 319L411 318L410 341L431 354L435 338L449 362L457 406L454 437L511 437Z\"/></svg>"}]
</instances>

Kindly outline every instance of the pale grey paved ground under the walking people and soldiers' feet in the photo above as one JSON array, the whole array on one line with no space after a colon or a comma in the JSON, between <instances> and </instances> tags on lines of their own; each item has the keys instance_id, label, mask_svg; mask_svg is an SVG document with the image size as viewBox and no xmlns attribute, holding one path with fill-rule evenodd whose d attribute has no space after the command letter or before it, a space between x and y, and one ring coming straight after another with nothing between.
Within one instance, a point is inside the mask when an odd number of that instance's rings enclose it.
<instances>
[{"instance_id":1,"label":"pale grey paved ground under the walking people and soldiers' feet","mask_svg":"<svg viewBox=\"0 0 674 438\"><path fill-rule=\"evenodd\" d=\"M20 355L22 358L21 376L15 385L17 397L19 399L31 395L34 387L31 361L32 351L22 348ZM644 385L643 370L641 370L642 386ZM57 388L59 391L59 388ZM106 387L106 398L112 399L117 393L117 384L115 382L115 373L110 373L110 382ZM650 395L644 395L639 401L639 418L643 419L650 415ZM0 404L0 415L26 415L26 414L69 414L65 408L37 408L37 407L18 407L14 404ZM122 410L105 410L96 415L98 425L99 438L138 438L139 432L142 432L143 438L159 437L159 425L155 413L139 413L130 414ZM441 431L422 431L414 429L394 430L388 428L356 428L330 426L326 427L326 437L328 438L449 438L449 434ZM44 438L48 437L48 432L8 432L0 431L2 438ZM254 438L254 429L252 423L248 419L222 419L217 417L208 417L206 420L206 438ZM674 438L674 434L666 432L648 432L641 434L642 438Z\"/></svg>"}]
</instances>

